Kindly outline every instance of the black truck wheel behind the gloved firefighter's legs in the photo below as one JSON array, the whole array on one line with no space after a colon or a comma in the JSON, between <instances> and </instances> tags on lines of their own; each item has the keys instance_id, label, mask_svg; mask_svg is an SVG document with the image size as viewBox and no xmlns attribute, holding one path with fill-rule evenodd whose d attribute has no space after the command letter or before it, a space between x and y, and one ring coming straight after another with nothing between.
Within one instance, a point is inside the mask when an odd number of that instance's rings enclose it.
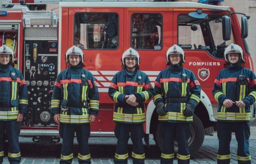
<instances>
[{"instance_id":1,"label":"black truck wheel behind the gloved firefighter's legs","mask_svg":"<svg viewBox=\"0 0 256 164\"><path fill-rule=\"evenodd\" d=\"M202 146L204 141L204 126L201 120L193 114L193 122L190 125L191 136L188 139L188 148L190 155L192 156L196 153ZM161 124L158 124L156 131L156 143L163 150L163 137L161 135ZM174 151L178 151L178 142L174 141Z\"/></svg>"}]
</instances>

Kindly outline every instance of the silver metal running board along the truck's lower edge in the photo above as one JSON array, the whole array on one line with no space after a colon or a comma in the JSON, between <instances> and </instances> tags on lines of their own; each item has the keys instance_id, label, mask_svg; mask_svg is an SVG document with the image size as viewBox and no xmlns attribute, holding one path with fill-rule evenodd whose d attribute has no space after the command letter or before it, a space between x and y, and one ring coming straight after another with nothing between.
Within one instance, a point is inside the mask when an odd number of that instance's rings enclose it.
<instances>
[{"instance_id":1,"label":"silver metal running board along the truck's lower edge","mask_svg":"<svg viewBox=\"0 0 256 164\"><path fill-rule=\"evenodd\" d=\"M35 137L35 136L52 136L60 137L58 130L37 130L37 129L21 129L20 137ZM115 137L114 132L91 132L90 137Z\"/></svg>"}]
</instances>

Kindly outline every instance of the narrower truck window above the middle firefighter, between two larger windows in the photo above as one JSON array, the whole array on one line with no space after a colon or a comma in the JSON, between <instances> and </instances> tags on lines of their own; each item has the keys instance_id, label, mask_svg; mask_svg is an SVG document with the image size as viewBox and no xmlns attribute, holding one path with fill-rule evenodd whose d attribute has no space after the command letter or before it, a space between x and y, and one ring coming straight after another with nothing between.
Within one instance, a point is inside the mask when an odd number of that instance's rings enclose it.
<instances>
[{"instance_id":1,"label":"narrower truck window above the middle firefighter, between two larger windows","mask_svg":"<svg viewBox=\"0 0 256 164\"><path fill-rule=\"evenodd\" d=\"M131 16L131 47L144 50L162 49L162 15L135 13Z\"/></svg>"}]
</instances>

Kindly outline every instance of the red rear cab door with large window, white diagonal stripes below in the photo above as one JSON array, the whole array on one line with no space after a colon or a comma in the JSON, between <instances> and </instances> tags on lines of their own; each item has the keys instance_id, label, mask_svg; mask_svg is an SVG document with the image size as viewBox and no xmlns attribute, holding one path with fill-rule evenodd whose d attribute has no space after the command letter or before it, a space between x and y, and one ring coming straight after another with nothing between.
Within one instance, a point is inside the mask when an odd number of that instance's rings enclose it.
<instances>
[{"instance_id":1,"label":"red rear cab door with large window, white diagonal stripes below","mask_svg":"<svg viewBox=\"0 0 256 164\"><path fill-rule=\"evenodd\" d=\"M67 47L78 46L84 53L85 69L94 75L100 111L92 131L113 132L113 101L108 95L110 82L121 70L123 54L123 8L68 8ZM64 53L63 53L64 54Z\"/></svg>"}]
</instances>

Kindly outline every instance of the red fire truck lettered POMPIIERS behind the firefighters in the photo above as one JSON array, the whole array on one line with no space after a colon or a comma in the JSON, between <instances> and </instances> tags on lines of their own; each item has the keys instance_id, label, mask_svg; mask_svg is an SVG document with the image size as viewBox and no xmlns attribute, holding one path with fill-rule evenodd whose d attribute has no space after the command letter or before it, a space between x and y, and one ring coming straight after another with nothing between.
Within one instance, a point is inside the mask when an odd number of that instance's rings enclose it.
<instances>
[{"instance_id":1,"label":"red fire truck lettered POMPIIERS behind the firefighters","mask_svg":"<svg viewBox=\"0 0 256 164\"><path fill-rule=\"evenodd\" d=\"M49 3L59 3L52 0ZM65 52L72 45L85 54L86 69L93 73L99 90L100 109L91 124L91 136L114 137L113 104L108 87L121 69L121 55L132 47L141 58L140 70L152 85L165 69L165 54L173 44L185 51L184 67L192 70L202 91L193 115L189 149L196 152L204 135L213 135L217 102L212 86L225 65L224 50L230 43L244 51L245 67L254 70L246 44L249 16L221 5L223 0L192 2L140 2L144 0L67 0L59 3L59 17L52 11L29 11L24 4L48 1L1 0L0 44L15 51L15 66L29 89L29 113L24 117L20 136L35 142L59 141L57 125L50 115L50 94L57 74L67 68ZM105 2L105 3L104 3ZM14 5L13 4L23 4ZM205 4L208 3L208 4ZM242 14L241 28L237 14ZM146 103L145 142L149 135L161 148L158 116L152 99ZM255 108L252 106L252 119Z\"/></svg>"}]
</instances>

